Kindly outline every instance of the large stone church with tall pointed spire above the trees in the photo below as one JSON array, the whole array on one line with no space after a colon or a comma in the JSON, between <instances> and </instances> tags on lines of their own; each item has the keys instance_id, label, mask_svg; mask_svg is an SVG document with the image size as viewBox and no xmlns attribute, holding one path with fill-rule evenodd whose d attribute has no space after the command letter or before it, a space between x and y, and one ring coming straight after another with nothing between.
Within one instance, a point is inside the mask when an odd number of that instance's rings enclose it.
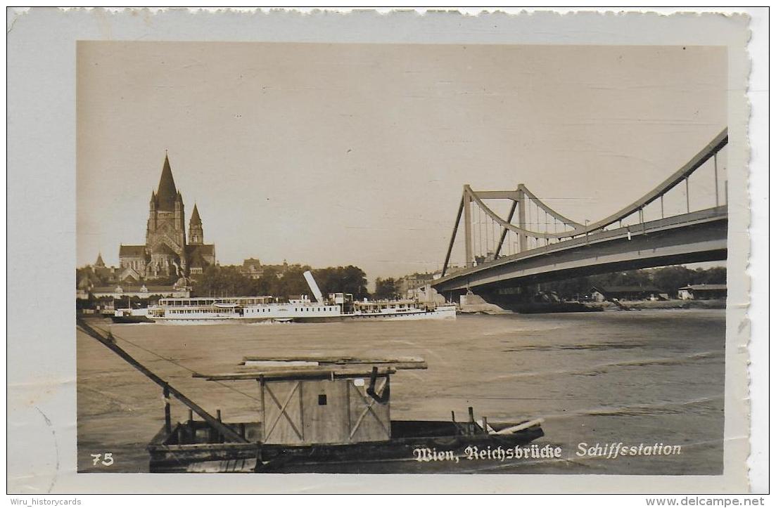
<instances>
[{"instance_id":1,"label":"large stone church with tall pointed spire above the trees","mask_svg":"<svg viewBox=\"0 0 776 508\"><path fill-rule=\"evenodd\" d=\"M202 219L194 205L186 241L185 213L181 192L175 188L170 161L165 165L156 192L151 191L145 245L121 245L120 281L151 281L189 277L216 264L216 246L205 244Z\"/></svg>"}]
</instances>

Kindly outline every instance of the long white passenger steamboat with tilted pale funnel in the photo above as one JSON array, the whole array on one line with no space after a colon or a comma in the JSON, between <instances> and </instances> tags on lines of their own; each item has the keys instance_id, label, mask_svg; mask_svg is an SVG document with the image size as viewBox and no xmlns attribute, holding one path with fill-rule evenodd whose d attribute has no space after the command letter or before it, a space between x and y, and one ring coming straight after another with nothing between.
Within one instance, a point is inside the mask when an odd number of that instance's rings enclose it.
<instances>
[{"instance_id":1,"label":"long white passenger steamboat with tilted pale funnel","mask_svg":"<svg viewBox=\"0 0 776 508\"><path fill-rule=\"evenodd\" d=\"M455 319L456 306L418 302L415 299L363 301L349 293L330 293L324 299L310 271L304 272L315 301L306 295L278 302L272 296L230 298L163 298L149 306L147 319L157 323L326 323L343 320Z\"/></svg>"}]
</instances>

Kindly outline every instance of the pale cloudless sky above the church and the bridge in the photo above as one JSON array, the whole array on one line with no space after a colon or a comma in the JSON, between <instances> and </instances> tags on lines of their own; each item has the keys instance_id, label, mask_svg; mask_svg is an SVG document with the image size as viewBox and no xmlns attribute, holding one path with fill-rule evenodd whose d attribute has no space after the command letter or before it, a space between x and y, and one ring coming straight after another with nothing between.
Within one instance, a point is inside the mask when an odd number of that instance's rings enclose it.
<instances>
[{"instance_id":1,"label":"pale cloudless sky above the church and the bridge","mask_svg":"<svg viewBox=\"0 0 776 508\"><path fill-rule=\"evenodd\" d=\"M78 265L144 244L165 150L186 226L196 203L221 264L432 271L464 184L523 183L592 223L726 127L726 59L724 47L79 42ZM694 209L714 204L700 173Z\"/></svg>"}]
</instances>

